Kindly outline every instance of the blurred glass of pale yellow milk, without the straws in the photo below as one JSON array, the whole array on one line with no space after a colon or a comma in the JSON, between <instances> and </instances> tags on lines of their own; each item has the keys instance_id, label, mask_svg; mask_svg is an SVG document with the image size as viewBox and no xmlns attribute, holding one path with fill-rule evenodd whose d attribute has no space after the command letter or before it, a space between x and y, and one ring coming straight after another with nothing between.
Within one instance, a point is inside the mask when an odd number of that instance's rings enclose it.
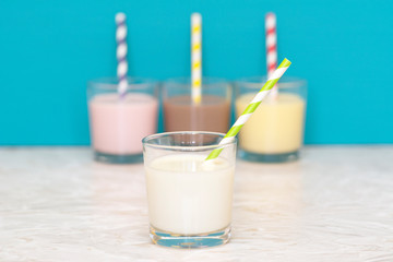
<instances>
[{"instance_id":1,"label":"blurred glass of pale yellow milk, without the straws","mask_svg":"<svg viewBox=\"0 0 393 262\"><path fill-rule=\"evenodd\" d=\"M235 82L236 115L240 116L266 79L248 78ZM264 163L296 160L303 141L307 82L282 78L278 97L266 97L239 132L242 159Z\"/></svg>"}]
</instances>

